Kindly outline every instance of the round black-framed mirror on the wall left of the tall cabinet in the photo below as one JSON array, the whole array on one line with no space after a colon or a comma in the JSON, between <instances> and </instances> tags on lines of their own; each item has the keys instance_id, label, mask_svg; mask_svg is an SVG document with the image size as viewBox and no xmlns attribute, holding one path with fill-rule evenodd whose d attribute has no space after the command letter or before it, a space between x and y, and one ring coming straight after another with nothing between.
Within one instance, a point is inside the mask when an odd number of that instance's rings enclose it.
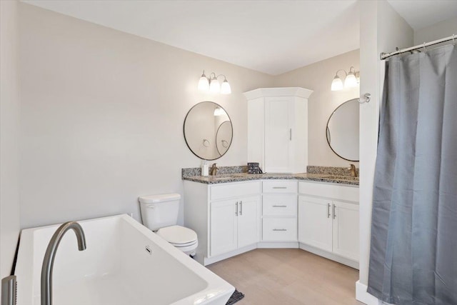
<instances>
[{"instance_id":1,"label":"round black-framed mirror on the wall left of the tall cabinet","mask_svg":"<svg viewBox=\"0 0 457 305\"><path fill-rule=\"evenodd\" d=\"M212 101L202 101L184 119L184 139L200 159L215 160L229 150L233 127L229 114Z\"/></svg>"}]
</instances>

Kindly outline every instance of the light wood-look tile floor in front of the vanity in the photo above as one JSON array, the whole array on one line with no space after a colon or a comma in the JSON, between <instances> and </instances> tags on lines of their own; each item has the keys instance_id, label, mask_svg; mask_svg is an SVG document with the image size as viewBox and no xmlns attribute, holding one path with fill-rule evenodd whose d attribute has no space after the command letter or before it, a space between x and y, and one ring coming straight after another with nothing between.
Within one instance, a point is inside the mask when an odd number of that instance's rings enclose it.
<instances>
[{"instance_id":1,"label":"light wood-look tile floor in front of the vanity","mask_svg":"<svg viewBox=\"0 0 457 305\"><path fill-rule=\"evenodd\" d=\"M301 249L256 249L207 266L245 296L237 305L359 305L358 270Z\"/></svg>"}]
</instances>

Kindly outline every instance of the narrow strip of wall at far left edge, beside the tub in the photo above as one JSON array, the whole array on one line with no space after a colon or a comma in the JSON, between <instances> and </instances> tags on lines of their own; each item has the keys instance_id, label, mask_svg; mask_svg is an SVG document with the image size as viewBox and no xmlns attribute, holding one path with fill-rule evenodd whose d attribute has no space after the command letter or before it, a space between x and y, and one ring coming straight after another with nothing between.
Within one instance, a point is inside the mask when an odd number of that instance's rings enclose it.
<instances>
[{"instance_id":1,"label":"narrow strip of wall at far left edge, beside the tub","mask_svg":"<svg viewBox=\"0 0 457 305\"><path fill-rule=\"evenodd\" d=\"M17 8L0 1L0 279L11 272L19 236Z\"/></svg>"}]
</instances>

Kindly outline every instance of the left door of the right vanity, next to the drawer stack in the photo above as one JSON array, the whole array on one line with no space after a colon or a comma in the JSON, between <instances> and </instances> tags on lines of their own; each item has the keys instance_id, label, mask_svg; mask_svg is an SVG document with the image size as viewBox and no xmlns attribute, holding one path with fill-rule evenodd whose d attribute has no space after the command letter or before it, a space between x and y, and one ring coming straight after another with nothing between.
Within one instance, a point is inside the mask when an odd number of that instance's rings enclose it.
<instances>
[{"instance_id":1,"label":"left door of the right vanity, next to the drawer stack","mask_svg":"<svg viewBox=\"0 0 457 305\"><path fill-rule=\"evenodd\" d=\"M332 251L332 217L330 200L298 197L298 241Z\"/></svg>"}]
</instances>

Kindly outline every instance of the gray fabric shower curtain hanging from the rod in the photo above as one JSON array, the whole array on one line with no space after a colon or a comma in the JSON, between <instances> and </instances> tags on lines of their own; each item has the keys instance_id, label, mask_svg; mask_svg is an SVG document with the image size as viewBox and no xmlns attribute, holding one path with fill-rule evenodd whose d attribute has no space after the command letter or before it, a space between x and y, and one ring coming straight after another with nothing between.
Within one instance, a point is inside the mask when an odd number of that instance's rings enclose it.
<instances>
[{"instance_id":1,"label":"gray fabric shower curtain hanging from the rod","mask_svg":"<svg viewBox=\"0 0 457 305\"><path fill-rule=\"evenodd\" d=\"M457 304L457 46L386 61L368 292Z\"/></svg>"}]
</instances>

